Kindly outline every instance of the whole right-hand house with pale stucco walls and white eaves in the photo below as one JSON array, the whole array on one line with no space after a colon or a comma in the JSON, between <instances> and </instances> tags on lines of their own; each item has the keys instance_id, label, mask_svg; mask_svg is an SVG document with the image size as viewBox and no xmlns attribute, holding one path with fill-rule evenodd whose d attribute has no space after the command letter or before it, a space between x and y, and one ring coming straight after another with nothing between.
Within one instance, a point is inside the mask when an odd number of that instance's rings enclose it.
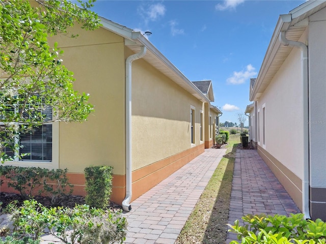
<instances>
[{"instance_id":1,"label":"whole right-hand house with pale stucco walls and white eaves","mask_svg":"<svg viewBox=\"0 0 326 244\"><path fill-rule=\"evenodd\" d=\"M280 15L250 84L251 139L307 218L326 220L326 1Z\"/></svg>"}]
</instances>

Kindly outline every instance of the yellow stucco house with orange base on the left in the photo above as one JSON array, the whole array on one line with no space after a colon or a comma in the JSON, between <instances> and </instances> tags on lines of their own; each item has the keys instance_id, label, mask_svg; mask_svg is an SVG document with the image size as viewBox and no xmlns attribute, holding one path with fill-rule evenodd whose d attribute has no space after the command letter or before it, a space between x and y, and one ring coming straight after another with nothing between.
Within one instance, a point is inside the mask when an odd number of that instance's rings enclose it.
<instances>
[{"instance_id":1,"label":"yellow stucco house with orange base on the left","mask_svg":"<svg viewBox=\"0 0 326 244\"><path fill-rule=\"evenodd\" d=\"M85 167L113 166L112 200L128 210L212 146L222 112L210 104L211 82L203 94L140 32L101 22L95 31L75 27L77 39L52 40L65 51L75 89L90 94L94 113L81 124L52 123L47 160L6 164L68 168L77 195L85 195Z\"/></svg>"}]
</instances>

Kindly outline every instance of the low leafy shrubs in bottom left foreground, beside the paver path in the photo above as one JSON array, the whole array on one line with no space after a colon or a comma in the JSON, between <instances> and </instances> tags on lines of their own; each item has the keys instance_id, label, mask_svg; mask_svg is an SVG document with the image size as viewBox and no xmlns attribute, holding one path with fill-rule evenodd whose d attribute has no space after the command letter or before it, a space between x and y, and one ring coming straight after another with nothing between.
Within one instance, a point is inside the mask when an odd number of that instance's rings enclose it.
<instances>
[{"instance_id":1,"label":"low leafy shrubs in bottom left foreground, beside the paver path","mask_svg":"<svg viewBox=\"0 0 326 244\"><path fill-rule=\"evenodd\" d=\"M88 205L46 208L35 200L25 200L21 207L11 205L10 212L15 240L38 241L41 235L48 234L63 243L122 243L126 236L127 221L121 216L121 210L103 210Z\"/></svg>"}]
</instances>

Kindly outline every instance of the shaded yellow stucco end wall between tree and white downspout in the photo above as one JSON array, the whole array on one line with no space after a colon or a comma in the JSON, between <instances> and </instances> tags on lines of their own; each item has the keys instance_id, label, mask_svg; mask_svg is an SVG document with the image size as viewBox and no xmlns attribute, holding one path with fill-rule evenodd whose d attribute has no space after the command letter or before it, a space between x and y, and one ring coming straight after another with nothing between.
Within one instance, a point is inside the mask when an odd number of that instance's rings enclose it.
<instances>
[{"instance_id":1,"label":"shaded yellow stucco end wall between tree and white downspout","mask_svg":"<svg viewBox=\"0 0 326 244\"><path fill-rule=\"evenodd\" d=\"M64 65L74 72L74 88L90 94L88 121L60 123L60 168L84 172L91 165L112 165L125 173L125 71L123 38L100 28L78 29L77 39L58 40Z\"/></svg>"}]
</instances>

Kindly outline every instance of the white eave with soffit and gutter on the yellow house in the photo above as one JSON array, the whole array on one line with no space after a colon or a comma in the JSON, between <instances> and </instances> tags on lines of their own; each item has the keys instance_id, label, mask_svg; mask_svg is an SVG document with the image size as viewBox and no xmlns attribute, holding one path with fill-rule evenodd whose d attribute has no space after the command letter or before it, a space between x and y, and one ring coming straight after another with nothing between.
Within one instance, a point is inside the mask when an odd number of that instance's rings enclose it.
<instances>
[{"instance_id":1,"label":"white eave with soffit and gutter on the yellow house","mask_svg":"<svg viewBox=\"0 0 326 244\"><path fill-rule=\"evenodd\" d=\"M111 20L100 17L102 27L111 31L119 36L122 36L125 41L125 45L132 51L139 52L141 46L146 46L147 51L143 57L146 62L151 64L157 70L165 74L188 93L192 94L195 98L201 102L212 102L207 98L198 88L195 86L182 72L180 72L158 49L147 39L141 32L134 32L132 29L123 25L115 23Z\"/></svg>"}]
</instances>

